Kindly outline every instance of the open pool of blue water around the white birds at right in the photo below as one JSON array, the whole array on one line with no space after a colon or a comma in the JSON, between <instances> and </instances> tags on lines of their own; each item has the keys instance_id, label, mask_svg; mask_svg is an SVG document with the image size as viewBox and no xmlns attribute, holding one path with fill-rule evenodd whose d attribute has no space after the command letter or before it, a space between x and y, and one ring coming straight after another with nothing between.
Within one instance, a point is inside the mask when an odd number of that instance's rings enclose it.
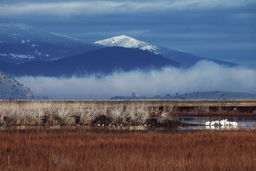
<instances>
[{"instance_id":1,"label":"open pool of blue water around the white birds at right","mask_svg":"<svg viewBox=\"0 0 256 171\"><path fill-rule=\"evenodd\" d=\"M220 128L252 128L256 127L256 117L170 117L171 119L175 119L185 123L195 123L201 124L200 126L185 126L182 129L196 129L196 128L205 128L205 129L220 129ZM208 121L221 121L227 119L231 122L237 122L237 126L205 126L205 123Z\"/></svg>"}]
</instances>

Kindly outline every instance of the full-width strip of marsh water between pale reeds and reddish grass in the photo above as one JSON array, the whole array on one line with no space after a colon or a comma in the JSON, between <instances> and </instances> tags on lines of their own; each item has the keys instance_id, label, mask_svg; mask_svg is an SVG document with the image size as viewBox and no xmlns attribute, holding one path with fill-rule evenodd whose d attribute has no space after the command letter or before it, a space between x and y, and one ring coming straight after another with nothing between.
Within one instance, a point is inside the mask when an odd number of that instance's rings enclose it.
<instances>
[{"instance_id":1,"label":"full-width strip of marsh water between pale reeds and reddish grass","mask_svg":"<svg viewBox=\"0 0 256 171\"><path fill-rule=\"evenodd\" d=\"M169 117L169 119L177 120L183 123L197 124L194 125L183 125L183 126L125 126L125 125L111 125L106 126L102 124L98 125L55 125L55 126L0 126L0 130L23 130L23 129L45 129L46 131L52 132L54 130L62 129L73 129L79 131L85 130L232 130L232 129L251 129L256 128L256 117ZM229 122L236 122L237 125L205 125L206 122L226 120Z\"/></svg>"}]
</instances>

